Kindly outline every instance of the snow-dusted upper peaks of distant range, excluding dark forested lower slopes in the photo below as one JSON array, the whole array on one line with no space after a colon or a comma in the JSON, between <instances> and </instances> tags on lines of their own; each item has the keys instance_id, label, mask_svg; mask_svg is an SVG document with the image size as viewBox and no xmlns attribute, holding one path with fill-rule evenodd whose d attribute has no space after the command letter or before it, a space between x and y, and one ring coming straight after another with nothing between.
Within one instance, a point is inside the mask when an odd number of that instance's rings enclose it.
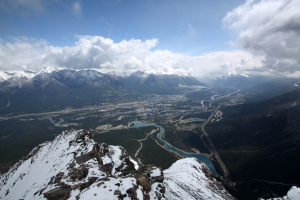
<instances>
[{"instance_id":1,"label":"snow-dusted upper peaks of distant range, excluding dark forested lower slopes","mask_svg":"<svg viewBox=\"0 0 300 200\"><path fill-rule=\"evenodd\" d=\"M204 86L192 76L178 74L153 74L137 71L130 75L120 73L101 73L95 70L48 70L45 69L40 73L34 72L1 72L0 73L0 90L16 87L21 89L30 81L40 82L45 87L53 80L58 81L70 88L73 87L99 87L99 88L122 88L130 87L132 89L143 87L167 87L176 89L179 85L198 85ZM40 85L41 85L40 84Z\"/></svg>"}]
</instances>

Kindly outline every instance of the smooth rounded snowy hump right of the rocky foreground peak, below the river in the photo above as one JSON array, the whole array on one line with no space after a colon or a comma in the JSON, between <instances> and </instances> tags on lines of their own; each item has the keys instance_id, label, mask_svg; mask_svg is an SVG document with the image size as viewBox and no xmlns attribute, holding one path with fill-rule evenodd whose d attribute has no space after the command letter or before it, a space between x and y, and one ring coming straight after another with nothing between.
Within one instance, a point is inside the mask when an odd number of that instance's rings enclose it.
<instances>
[{"instance_id":1,"label":"smooth rounded snowy hump right of the rocky foreground peak, below the river","mask_svg":"<svg viewBox=\"0 0 300 200\"><path fill-rule=\"evenodd\" d=\"M234 199L196 158L178 160L164 171L166 199Z\"/></svg>"}]
</instances>

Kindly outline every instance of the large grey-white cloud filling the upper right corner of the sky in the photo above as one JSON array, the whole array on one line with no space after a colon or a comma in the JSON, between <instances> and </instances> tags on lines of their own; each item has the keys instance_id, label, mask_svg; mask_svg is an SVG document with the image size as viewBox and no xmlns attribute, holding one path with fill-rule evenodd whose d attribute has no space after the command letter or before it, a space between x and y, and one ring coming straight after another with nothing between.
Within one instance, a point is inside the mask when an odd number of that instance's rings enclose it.
<instances>
[{"instance_id":1,"label":"large grey-white cloud filling the upper right corner of the sky","mask_svg":"<svg viewBox=\"0 0 300 200\"><path fill-rule=\"evenodd\" d=\"M223 23L238 33L238 44L265 56L266 70L292 74L300 71L299 10L299 0L247 0Z\"/></svg>"}]
</instances>

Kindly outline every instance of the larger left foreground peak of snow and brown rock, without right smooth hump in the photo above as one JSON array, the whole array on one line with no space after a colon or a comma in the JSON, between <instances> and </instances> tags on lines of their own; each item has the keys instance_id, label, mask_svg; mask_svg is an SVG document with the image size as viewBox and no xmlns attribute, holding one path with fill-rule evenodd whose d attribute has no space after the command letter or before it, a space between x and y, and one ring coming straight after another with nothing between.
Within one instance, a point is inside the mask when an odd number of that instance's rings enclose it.
<instances>
[{"instance_id":1,"label":"larger left foreground peak of snow and brown rock, without right smooth hump","mask_svg":"<svg viewBox=\"0 0 300 200\"><path fill-rule=\"evenodd\" d=\"M145 177L146 173L135 169L124 148L97 144L87 131L66 131L53 142L33 149L1 177L0 199L162 196L156 189L158 183L147 185Z\"/></svg>"}]
</instances>

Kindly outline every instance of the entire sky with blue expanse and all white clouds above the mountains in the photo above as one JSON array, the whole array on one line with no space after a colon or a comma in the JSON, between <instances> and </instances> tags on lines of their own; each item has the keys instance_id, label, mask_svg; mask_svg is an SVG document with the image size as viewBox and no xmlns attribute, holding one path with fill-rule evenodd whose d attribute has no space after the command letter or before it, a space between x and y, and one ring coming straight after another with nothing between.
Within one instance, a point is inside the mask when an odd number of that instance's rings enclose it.
<instances>
[{"instance_id":1,"label":"entire sky with blue expanse and all white clouds above the mountains","mask_svg":"<svg viewBox=\"0 0 300 200\"><path fill-rule=\"evenodd\" d=\"M299 0L1 0L0 70L300 78Z\"/></svg>"}]
</instances>

